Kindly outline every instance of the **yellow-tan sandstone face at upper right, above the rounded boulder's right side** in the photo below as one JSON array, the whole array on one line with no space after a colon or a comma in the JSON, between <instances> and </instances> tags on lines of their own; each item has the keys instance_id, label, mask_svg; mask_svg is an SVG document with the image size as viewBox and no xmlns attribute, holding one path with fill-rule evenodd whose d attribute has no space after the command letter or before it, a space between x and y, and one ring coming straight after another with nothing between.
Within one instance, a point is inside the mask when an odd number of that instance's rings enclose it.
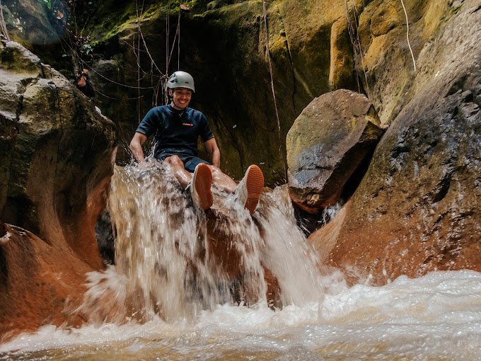
<instances>
[{"instance_id":1,"label":"yellow-tan sandstone face at upper right, above the rounded boulder's right side","mask_svg":"<svg viewBox=\"0 0 481 361\"><path fill-rule=\"evenodd\" d=\"M357 74L382 124L390 123L415 96L415 73L410 48L416 63L430 52L439 30L453 21L460 8L474 6L472 1L404 1L409 20L409 38L402 4L398 0L371 0L359 15L359 43L363 56L357 56ZM470 5L471 4L471 5ZM462 7L461 7L462 5ZM352 10L352 9L351 9ZM359 8L358 8L359 10ZM470 35L468 35L469 37ZM432 58L432 71L439 59ZM419 73L419 71L418 71ZM436 72L434 72L436 74ZM434 74L431 74L434 75Z\"/></svg>"}]
</instances>

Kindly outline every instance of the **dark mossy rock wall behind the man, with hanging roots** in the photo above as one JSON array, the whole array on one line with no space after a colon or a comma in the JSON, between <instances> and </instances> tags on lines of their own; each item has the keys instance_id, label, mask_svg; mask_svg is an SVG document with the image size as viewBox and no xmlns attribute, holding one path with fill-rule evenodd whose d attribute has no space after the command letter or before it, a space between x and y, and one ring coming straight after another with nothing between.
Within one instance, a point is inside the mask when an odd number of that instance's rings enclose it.
<instances>
[{"instance_id":1,"label":"dark mossy rock wall behind the man, with hanging roots","mask_svg":"<svg viewBox=\"0 0 481 361\"><path fill-rule=\"evenodd\" d=\"M207 2L181 12L179 53L179 38L173 42L176 11L169 15L166 51L166 1L147 1L139 18L131 6L99 6L87 27L99 41L91 62L95 103L120 126L122 142L128 144L146 112L163 103L158 86L167 72L166 53L173 48L168 72L179 64L194 76L192 106L209 118L222 168L240 178L255 163L267 183L284 183L284 139L294 119L322 93L357 88L344 2L270 1L267 34L262 1ZM120 149L118 161L129 157Z\"/></svg>"}]
</instances>

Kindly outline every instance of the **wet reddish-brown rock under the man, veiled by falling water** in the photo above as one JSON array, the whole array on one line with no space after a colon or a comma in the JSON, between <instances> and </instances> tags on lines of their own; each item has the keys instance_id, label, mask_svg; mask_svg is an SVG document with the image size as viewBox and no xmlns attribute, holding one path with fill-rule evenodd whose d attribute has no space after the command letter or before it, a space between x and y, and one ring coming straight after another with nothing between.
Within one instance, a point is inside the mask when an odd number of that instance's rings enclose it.
<instances>
[{"instance_id":1,"label":"wet reddish-brown rock under the man, veiled by falling water","mask_svg":"<svg viewBox=\"0 0 481 361\"><path fill-rule=\"evenodd\" d=\"M232 200L216 187L214 205L199 210L168 167L158 161L116 167L112 178L115 271L125 277L132 309L125 316L144 321L152 311L173 320L219 303L255 304L260 291L279 307L279 282L260 259L265 242L255 220L227 206Z\"/></svg>"}]
</instances>

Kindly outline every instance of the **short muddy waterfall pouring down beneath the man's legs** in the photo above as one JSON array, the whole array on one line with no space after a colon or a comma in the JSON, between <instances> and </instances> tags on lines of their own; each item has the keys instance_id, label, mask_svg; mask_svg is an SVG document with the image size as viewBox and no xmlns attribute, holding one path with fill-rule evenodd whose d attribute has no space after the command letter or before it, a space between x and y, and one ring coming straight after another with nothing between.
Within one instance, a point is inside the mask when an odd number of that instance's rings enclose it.
<instances>
[{"instance_id":1,"label":"short muddy waterfall pouring down beneath the man's legs","mask_svg":"<svg viewBox=\"0 0 481 361\"><path fill-rule=\"evenodd\" d=\"M318 257L296 226L286 188L265 192L252 216L233 194L215 186L213 193L204 212L168 164L115 167L108 202L115 267L88 276L83 317L192 320L221 304L320 302Z\"/></svg>"}]
</instances>

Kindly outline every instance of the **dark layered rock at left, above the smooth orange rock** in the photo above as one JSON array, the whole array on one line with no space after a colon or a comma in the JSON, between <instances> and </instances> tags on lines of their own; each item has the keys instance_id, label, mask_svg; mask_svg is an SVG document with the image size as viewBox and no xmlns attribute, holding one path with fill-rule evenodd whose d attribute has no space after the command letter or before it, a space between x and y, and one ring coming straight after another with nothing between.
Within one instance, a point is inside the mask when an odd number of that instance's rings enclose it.
<instances>
[{"instance_id":1,"label":"dark layered rock at left, above the smooth orange rock","mask_svg":"<svg viewBox=\"0 0 481 361\"><path fill-rule=\"evenodd\" d=\"M0 217L50 244L66 241L98 268L93 226L112 173L112 122L21 45L6 43L1 59Z\"/></svg>"}]
</instances>

